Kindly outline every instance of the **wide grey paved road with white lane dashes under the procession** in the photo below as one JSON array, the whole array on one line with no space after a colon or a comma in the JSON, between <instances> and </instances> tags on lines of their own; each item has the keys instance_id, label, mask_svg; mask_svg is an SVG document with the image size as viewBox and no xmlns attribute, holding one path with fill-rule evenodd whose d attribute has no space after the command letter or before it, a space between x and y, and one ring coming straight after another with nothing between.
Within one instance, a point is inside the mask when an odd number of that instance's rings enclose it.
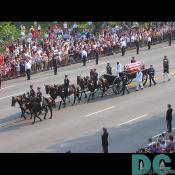
<instances>
[{"instance_id":1,"label":"wide grey paved road with white lane dashes under the procession","mask_svg":"<svg viewBox=\"0 0 175 175\"><path fill-rule=\"evenodd\" d=\"M175 43L173 43L175 44ZM166 130L165 111L167 104L174 108L175 96L175 45L167 43L155 45L151 50L142 48L140 54L135 50L126 52L122 57L115 54L101 58L99 65L95 61L60 68L58 75L52 71L38 73L30 81L19 78L3 82L0 90L0 152L101 152L101 128L109 130L110 152L134 152L137 147L146 144L148 137ZM162 59L167 55L170 60L171 81L162 82ZM108 92L104 98L96 94L96 98L68 105L58 111L54 109L53 119L36 122L20 119L18 106L11 107L11 97L29 90L33 84L42 87L44 84L63 83L64 75L68 74L71 83L76 83L77 75L89 75L90 68L96 68L102 75L107 62L113 65L117 60L121 64L130 62L131 57L143 60L146 67L153 64L156 69L157 85L145 86L145 89L125 96L113 95ZM44 94L45 95L45 94ZM175 122L173 120L173 126Z\"/></svg>"}]
</instances>

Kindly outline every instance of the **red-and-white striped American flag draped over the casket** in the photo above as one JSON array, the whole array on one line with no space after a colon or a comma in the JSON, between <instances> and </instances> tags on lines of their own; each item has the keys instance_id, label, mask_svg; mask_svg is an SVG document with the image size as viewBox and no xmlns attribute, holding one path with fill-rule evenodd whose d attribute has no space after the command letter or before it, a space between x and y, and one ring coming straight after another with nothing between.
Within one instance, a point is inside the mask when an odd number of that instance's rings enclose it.
<instances>
[{"instance_id":1,"label":"red-and-white striped American flag draped over the casket","mask_svg":"<svg viewBox=\"0 0 175 175\"><path fill-rule=\"evenodd\" d=\"M130 64L126 64L124 65L124 71L127 72L135 72L138 71L138 69L144 69L145 65L142 61L137 61L135 63L130 63Z\"/></svg>"}]
</instances>

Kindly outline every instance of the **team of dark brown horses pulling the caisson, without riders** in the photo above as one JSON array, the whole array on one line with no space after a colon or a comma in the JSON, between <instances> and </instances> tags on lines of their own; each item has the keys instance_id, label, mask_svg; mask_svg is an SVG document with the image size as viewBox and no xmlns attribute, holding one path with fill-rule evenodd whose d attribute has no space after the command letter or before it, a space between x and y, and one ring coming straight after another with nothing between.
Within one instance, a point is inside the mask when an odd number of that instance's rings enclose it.
<instances>
[{"instance_id":1,"label":"team of dark brown horses pulling the caisson, without riders","mask_svg":"<svg viewBox=\"0 0 175 175\"><path fill-rule=\"evenodd\" d=\"M60 97L60 103L58 109L66 106L66 101L68 100L70 103L70 96L73 96L73 103L75 104L76 99L80 103L82 99L82 95L84 94L84 98L87 98L87 92L89 92L88 102L90 99L94 99L94 94L101 90L102 95L104 96L105 92L108 90L108 82L104 78L99 78L97 81L90 79L88 76L82 77L77 76L77 85L71 84L68 87L68 91L65 94L64 85L45 85L46 94L49 94L50 97L42 97L42 105L40 100L37 97L30 97L29 94L22 94L15 97L12 97L11 106L15 106L16 102L19 104L21 109L21 117L26 119L26 114L30 114L30 119L34 117L33 124L38 118L40 121L42 120L39 116L44 111L44 119L46 119L46 115L48 111L50 111L50 119L52 118L52 108L56 107L56 98Z\"/></svg>"}]
</instances>

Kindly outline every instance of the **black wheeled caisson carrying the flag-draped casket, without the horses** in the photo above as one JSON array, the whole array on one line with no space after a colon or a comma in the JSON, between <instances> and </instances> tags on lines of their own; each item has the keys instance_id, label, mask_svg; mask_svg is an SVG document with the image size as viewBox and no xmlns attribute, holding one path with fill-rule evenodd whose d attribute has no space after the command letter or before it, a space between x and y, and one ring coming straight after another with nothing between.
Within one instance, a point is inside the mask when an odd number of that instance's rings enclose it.
<instances>
[{"instance_id":1,"label":"black wheeled caisson carrying the flag-draped casket, without the horses","mask_svg":"<svg viewBox=\"0 0 175 175\"><path fill-rule=\"evenodd\" d=\"M112 88L114 94L119 94L121 93L123 74L126 74L128 78L127 84L130 84L134 80L134 78L136 78L136 73L139 69L143 73L142 82L144 86L148 79L149 69L145 69L144 63L139 61L137 61L136 63L130 63L125 65L124 71L119 73L119 77L116 75L104 74L100 78L105 79L107 81L107 87Z\"/></svg>"}]
</instances>

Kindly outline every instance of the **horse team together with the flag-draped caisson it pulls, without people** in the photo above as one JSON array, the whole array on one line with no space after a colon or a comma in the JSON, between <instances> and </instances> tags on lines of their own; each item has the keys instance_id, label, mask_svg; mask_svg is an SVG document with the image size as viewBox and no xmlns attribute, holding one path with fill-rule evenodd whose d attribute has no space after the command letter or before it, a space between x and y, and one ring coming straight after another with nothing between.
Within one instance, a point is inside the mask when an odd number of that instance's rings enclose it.
<instances>
[{"instance_id":1,"label":"horse team together with the flag-draped caisson it pulls, without people","mask_svg":"<svg viewBox=\"0 0 175 175\"><path fill-rule=\"evenodd\" d=\"M139 69L143 73L142 82L143 85L145 85L148 79L149 69L145 69L145 66L142 62L135 62L125 65L124 70L119 73L119 76L104 74L98 79L93 79L89 76L77 76L77 85L68 85L66 93L64 84L45 85L46 94L49 94L50 97L42 98L42 107L39 101L37 101L37 98L29 98L29 96L26 96L25 94L12 97L12 106L14 106L16 102L18 102L21 108L21 117L25 118L25 113L28 111L31 114L31 118L32 115L34 115L33 123L35 123L36 117L41 120L39 115L41 114L42 110L45 111L44 119L46 118L48 109L51 113L50 118L52 118L52 107L56 106L55 100L57 97L60 97L61 99L58 107L58 109L60 109L62 104L64 107L66 106L67 99L70 103L70 96L73 96L74 98L72 103L72 105L74 105L76 99L78 99L78 102L80 103L83 94L84 98L88 98L87 101L89 101L90 98L94 98L94 95L97 91L101 92L101 97L103 97L105 92L110 88L112 88L114 94L121 93L122 76L125 74L128 79L127 84L130 84L133 79L136 78L136 73Z\"/></svg>"}]
</instances>

